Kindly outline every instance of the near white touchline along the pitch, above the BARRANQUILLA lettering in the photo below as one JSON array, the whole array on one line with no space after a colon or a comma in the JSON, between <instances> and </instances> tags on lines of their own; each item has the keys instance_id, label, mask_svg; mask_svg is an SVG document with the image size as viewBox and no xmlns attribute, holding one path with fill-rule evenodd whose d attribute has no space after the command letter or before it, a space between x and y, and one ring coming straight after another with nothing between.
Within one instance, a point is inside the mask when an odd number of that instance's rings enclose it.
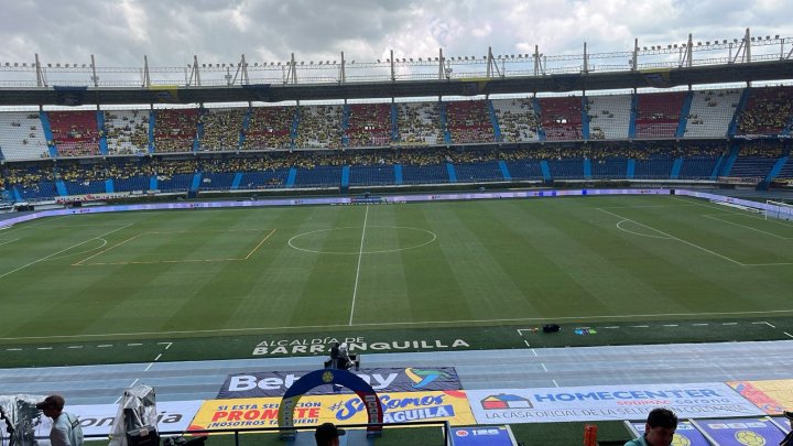
<instances>
[{"instance_id":1,"label":"near white touchline along the pitch, above the BARRANQUILLA lettering","mask_svg":"<svg viewBox=\"0 0 793 446\"><path fill-rule=\"evenodd\" d=\"M710 313L659 313L659 314L632 314L632 315L599 315L599 316L547 316L547 317L522 317L522 318L504 318L504 319L455 319L455 320L432 320L432 322L397 322L397 323L363 323L355 324L355 327L431 327L435 325L448 324L493 324L493 323L524 323L531 320L593 320L593 319L634 319L643 317L705 317L705 316L746 316L746 315L768 315L774 314L793 314L793 309L768 309L757 312L710 312ZM692 324L694 326L705 326L708 324ZM195 335L209 333L259 333L259 331L291 331L305 330L307 328L349 328L348 324L330 324L330 325L300 325L283 327L249 327L249 328L216 328L206 330L174 330L174 331L138 331L138 333L105 333L95 335L56 335L56 336L21 336L12 338L0 338L0 340L48 340L48 339L75 339L75 338L98 338L98 337L124 337L124 336L167 336L167 335Z\"/></svg>"}]
</instances>

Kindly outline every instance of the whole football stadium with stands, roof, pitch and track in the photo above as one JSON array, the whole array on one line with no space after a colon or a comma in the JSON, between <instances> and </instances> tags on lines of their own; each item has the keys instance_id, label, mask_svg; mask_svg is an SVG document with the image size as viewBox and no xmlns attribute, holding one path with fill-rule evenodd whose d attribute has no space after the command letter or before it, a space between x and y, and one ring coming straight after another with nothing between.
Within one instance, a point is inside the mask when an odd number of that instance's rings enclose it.
<instances>
[{"instance_id":1,"label":"whole football stadium with stands, roof, pitch and track","mask_svg":"<svg viewBox=\"0 0 793 446\"><path fill-rule=\"evenodd\" d=\"M146 384L163 438L621 445L664 405L675 444L778 444L793 39L481 53L0 64L0 406L63 393L106 443Z\"/></svg>"}]
</instances>

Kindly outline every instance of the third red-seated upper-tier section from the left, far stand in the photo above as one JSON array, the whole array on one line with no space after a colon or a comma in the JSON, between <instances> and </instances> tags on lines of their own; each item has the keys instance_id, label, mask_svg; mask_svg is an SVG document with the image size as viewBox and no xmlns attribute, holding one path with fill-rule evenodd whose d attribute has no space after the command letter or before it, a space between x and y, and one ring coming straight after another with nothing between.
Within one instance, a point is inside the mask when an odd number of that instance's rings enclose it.
<instances>
[{"instance_id":1,"label":"third red-seated upper-tier section from the left, far stand","mask_svg":"<svg viewBox=\"0 0 793 446\"><path fill-rule=\"evenodd\" d=\"M256 107L251 109L245 132L245 150L292 148L294 107Z\"/></svg>"}]
</instances>

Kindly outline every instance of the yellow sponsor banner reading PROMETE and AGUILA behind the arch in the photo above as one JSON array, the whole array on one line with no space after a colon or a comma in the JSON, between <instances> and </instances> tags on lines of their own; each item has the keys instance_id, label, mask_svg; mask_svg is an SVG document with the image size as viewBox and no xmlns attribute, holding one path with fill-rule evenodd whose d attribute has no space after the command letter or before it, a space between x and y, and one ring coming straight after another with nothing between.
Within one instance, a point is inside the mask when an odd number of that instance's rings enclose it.
<instances>
[{"instance_id":1,"label":"yellow sponsor banner reading PROMETE and AGUILA behind the arch","mask_svg":"<svg viewBox=\"0 0 793 446\"><path fill-rule=\"evenodd\" d=\"M384 409L383 423L412 421L448 421L453 425L475 424L464 391L380 393ZM192 429L254 429L276 427L280 398L235 399L206 401ZM294 407L295 426L322 423L365 424L368 414L363 401L356 394L306 395Z\"/></svg>"}]
</instances>

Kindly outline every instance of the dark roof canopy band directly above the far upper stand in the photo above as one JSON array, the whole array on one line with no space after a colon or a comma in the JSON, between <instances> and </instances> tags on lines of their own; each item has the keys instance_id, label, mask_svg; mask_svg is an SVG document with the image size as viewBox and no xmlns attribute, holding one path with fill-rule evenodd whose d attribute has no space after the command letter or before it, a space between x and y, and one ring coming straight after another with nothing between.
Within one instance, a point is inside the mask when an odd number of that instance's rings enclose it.
<instances>
[{"instance_id":1,"label":"dark roof canopy band directly above the far upper stand","mask_svg":"<svg viewBox=\"0 0 793 446\"><path fill-rule=\"evenodd\" d=\"M0 89L0 106L281 102L294 100L479 96L790 79L793 59L611 73L471 77L345 84L253 84L232 86L35 87Z\"/></svg>"}]
</instances>

